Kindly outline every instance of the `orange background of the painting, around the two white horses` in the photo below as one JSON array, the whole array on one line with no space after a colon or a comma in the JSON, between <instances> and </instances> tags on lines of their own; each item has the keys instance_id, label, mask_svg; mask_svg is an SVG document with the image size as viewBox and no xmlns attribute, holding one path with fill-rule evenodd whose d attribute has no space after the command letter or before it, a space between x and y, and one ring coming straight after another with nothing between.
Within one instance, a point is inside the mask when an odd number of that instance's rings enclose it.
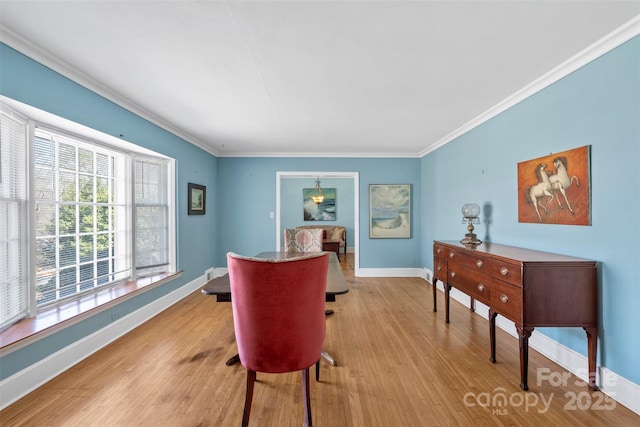
<instances>
[{"instance_id":1,"label":"orange background of the painting, around the two white horses","mask_svg":"<svg viewBox=\"0 0 640 427\"><path fill-rule=\"evenodd\" d=\"M537 159L527 160L518 163L518 222L532 222L538 224L568 224L568 225L591 225L591 146L586 145L580 148L549 154ZM553 165L554 159L565 157L567 174L569 178L575 176L565 194L569 205L573 209L571 213L564 196L560 191L551 190L553 199L548 203L549 197L542 196L538 199L545 209L538 206L541 219L538 218L533 203L528 201L527 194L529 188L538 184L536 169L540 163L547 165L545 171L547 176L557 173ZM579 185L578 185L579 184ZM562 208L558 205L558 200Z\"/></svg>"}]
</instances>

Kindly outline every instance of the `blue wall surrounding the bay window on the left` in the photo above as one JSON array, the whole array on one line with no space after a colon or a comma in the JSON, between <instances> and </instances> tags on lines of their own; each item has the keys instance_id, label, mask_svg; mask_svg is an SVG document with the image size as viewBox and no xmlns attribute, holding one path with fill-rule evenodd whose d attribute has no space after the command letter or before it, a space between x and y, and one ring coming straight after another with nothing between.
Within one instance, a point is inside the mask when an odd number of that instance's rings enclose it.
<instances>
[{"instance_id":1,"label":"blue wall surrounding the bay window on the left","mask_svg":"<svg viewBox=\"0 0 640 427\"><path fill-rule=\"evenodd\" d=\"M150 122L130 113L21 53L0 44L0 93L52 114L100 130L176 159L176 222L181 278L103 311L0 360L0 380L39 361L112 322L200 277L216 257L216 212L187 215L187 183L207 187L207 200L217 198L218 159ZM210 236L203 239L202 236Z\"/></svg>"}]
</instances>

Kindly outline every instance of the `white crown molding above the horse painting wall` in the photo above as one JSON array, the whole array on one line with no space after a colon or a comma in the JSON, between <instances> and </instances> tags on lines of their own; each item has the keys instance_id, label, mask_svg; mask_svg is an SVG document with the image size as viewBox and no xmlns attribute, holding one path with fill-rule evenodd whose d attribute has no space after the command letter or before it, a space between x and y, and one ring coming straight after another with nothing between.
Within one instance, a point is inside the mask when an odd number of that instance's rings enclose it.
<instances>
[{"instance_id":1,"label":"white crown molding above the horse painting wall","mask_svg":"<svg viewBox=\"0 0 640 427\"><path fill-rule=\"evenodd\" d=\"M480 126L482 123L492 119L493 117L513 107L519 102L524 101L525 99L535 94L536 92L539 92L542 89L562 79L563 77L568 76L569 74L573 73L579 68L601 57L605 53L612 51L613 49L631 40L632 38L636 37L639 34L640 34L640 15L627 21L625 24L618 27L611 33L607 34L602 39L598 40L597 42L593 43L592 45L578 52L577 54L567 59L557 67L551 69L550 71L548 71L547 73L539 77L538 79L529 83L527 86L523 87L513 95L499 102L498 104L491 107L490 109L480 114L476 118L472 119L471 121L465 123L455 131L451 132L449 135L429 145L426 149L424 149L418 154L418 157L424 157L425 155L431 153L432 151L437 150L443 145L469 132L473 128Z\"/></svg>"}]
</instances>

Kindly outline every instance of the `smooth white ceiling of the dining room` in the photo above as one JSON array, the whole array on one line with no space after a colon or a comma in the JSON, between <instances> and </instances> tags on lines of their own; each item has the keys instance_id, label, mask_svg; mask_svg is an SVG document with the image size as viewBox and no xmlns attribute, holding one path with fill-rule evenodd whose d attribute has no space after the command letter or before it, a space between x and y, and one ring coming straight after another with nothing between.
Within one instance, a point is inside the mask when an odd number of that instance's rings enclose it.
<instances>
[{"instance_id":1,"label":"smooth white ceiling of the dining room","mask_svg":"<svg viewBox=\"0 0 640 427\"><path fill-rule=\"evenodd\" d=\"M414 157L629 21L637 34L639 14L640 0L0 0L0 35L219 156Z\"/></svg>"}]
</instances>

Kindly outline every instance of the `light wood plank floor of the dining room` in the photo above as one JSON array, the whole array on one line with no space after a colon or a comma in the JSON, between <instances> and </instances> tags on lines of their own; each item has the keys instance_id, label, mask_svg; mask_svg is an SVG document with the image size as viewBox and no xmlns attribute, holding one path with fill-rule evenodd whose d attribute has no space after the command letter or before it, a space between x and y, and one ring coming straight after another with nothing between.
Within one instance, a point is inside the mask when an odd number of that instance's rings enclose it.
<instances>
[{"instance_id":1,"label":"light wood plank floor of the dining room","mask_svg":"<svg viewBox=\"0 0 640 427\"><path fill-rule=\"evenodd\" d=\"M446 325L427 282L354 278L351 256L342 262L350 292L328 304L325 348L338 366L323 362L321 382L311 382L314 425L640 425L573 376L536 384L537 369L564 370L535 351L523 392L517 340L499 330L490 363L486 320L452 301ZM231 305L195 292L6 408L0 425L237 426L245 370L224 364L235 352ZM301 425L300 375L258 380L251 425Z\"/></svg>"}]
</instances>

